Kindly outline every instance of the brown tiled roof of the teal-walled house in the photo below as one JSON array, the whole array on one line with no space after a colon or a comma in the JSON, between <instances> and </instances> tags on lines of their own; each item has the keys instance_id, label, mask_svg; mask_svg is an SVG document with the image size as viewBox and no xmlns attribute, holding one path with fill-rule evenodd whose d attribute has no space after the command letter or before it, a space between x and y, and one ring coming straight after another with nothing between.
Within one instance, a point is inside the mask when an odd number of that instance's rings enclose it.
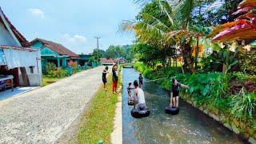
<instances>
[{"instance_id":1,"label":"brown tiled roof of the teal-walled house","mask_svg":"<svg viewBox=\"0 0 256 144\"><path fill-rule=\"evenodd\" d=\"M70 58L79 58L78 54L74 54L71 50L67 49L65 46L62 46L62 44L56 43L56 42L50 42L42 38L35 38L33 41L31 41L31 45L33 45L35 42L42 42L43 45L41 48L48 47L50 50L54 50L58 54L62 55L68 55Z\"/></svg>"}]
</instances>

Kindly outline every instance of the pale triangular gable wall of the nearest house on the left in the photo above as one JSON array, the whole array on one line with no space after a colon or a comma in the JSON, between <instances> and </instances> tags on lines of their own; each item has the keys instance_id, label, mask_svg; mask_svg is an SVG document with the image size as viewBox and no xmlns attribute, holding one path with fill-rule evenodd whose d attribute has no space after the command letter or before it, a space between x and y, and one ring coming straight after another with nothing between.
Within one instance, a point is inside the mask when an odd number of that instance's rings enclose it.
<instances>
[{"instance_id":1,"label":"pale triangular gable wall of the nearest house on the left","mask_svg":"<svg viewBox=\"0 0 256 144\"><path fill-rule=\"evenodd\" d=\"M0 22L0 45L5 46L18 46L10 32L6 30L2 22Z\"/></svg>"}]
</instances>

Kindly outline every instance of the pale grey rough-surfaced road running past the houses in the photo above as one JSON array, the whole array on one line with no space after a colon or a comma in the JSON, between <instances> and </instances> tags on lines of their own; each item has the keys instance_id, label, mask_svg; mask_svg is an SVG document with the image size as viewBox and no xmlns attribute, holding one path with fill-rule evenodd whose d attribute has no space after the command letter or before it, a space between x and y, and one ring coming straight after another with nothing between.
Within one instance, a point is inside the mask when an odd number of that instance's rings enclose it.
<instances>
[{"instance_id":1,"label":"pale grey rough-surfaced road running past the houses","mask_svg":"<svg viewBox=\"0 0 256 144\"><path fill-rule=\"evenodd\" d=\"M54 143L82 114L104 66L0 101L0 143Z\"/></svg>"}]
</instances>

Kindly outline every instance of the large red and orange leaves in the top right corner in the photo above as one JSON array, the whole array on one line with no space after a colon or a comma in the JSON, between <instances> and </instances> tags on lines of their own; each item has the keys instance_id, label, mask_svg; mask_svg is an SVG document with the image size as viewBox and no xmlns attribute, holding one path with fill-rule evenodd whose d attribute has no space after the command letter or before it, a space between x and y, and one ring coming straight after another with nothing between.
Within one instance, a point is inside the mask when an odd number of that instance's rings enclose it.
<instances>
[{"instance_id":1,"label":"large red and orange leaves in the top right corner","mask_svg":"<svg viewBox=\"0 0 256 144\"><path fill-rule=\"evenodd\" d=\"M238 11L234 14L243 15L239 16L237 21L216 26L209 35L209 37L214 36L212 42L256 39L256 1L244 0L238 5Z\"/></svg>"}]
</instances>

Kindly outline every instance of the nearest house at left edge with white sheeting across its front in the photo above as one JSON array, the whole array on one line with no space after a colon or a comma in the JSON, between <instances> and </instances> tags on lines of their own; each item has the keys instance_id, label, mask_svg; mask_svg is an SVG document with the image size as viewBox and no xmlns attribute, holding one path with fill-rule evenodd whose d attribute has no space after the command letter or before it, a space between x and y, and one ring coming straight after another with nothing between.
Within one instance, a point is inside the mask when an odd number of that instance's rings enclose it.
<instances>
[{"instance_id":1,"label":"nearest house at left edge with white sheeting across its front","mask_svg":"<svg viewBox=\"0 0 256 144\"><path fill-rule=\"evenodd\" d=\"M40 51L30 47L0 7L0 81L8 77L14 86L41 86L40 57Z\"/></svg>"}]
</instances>

